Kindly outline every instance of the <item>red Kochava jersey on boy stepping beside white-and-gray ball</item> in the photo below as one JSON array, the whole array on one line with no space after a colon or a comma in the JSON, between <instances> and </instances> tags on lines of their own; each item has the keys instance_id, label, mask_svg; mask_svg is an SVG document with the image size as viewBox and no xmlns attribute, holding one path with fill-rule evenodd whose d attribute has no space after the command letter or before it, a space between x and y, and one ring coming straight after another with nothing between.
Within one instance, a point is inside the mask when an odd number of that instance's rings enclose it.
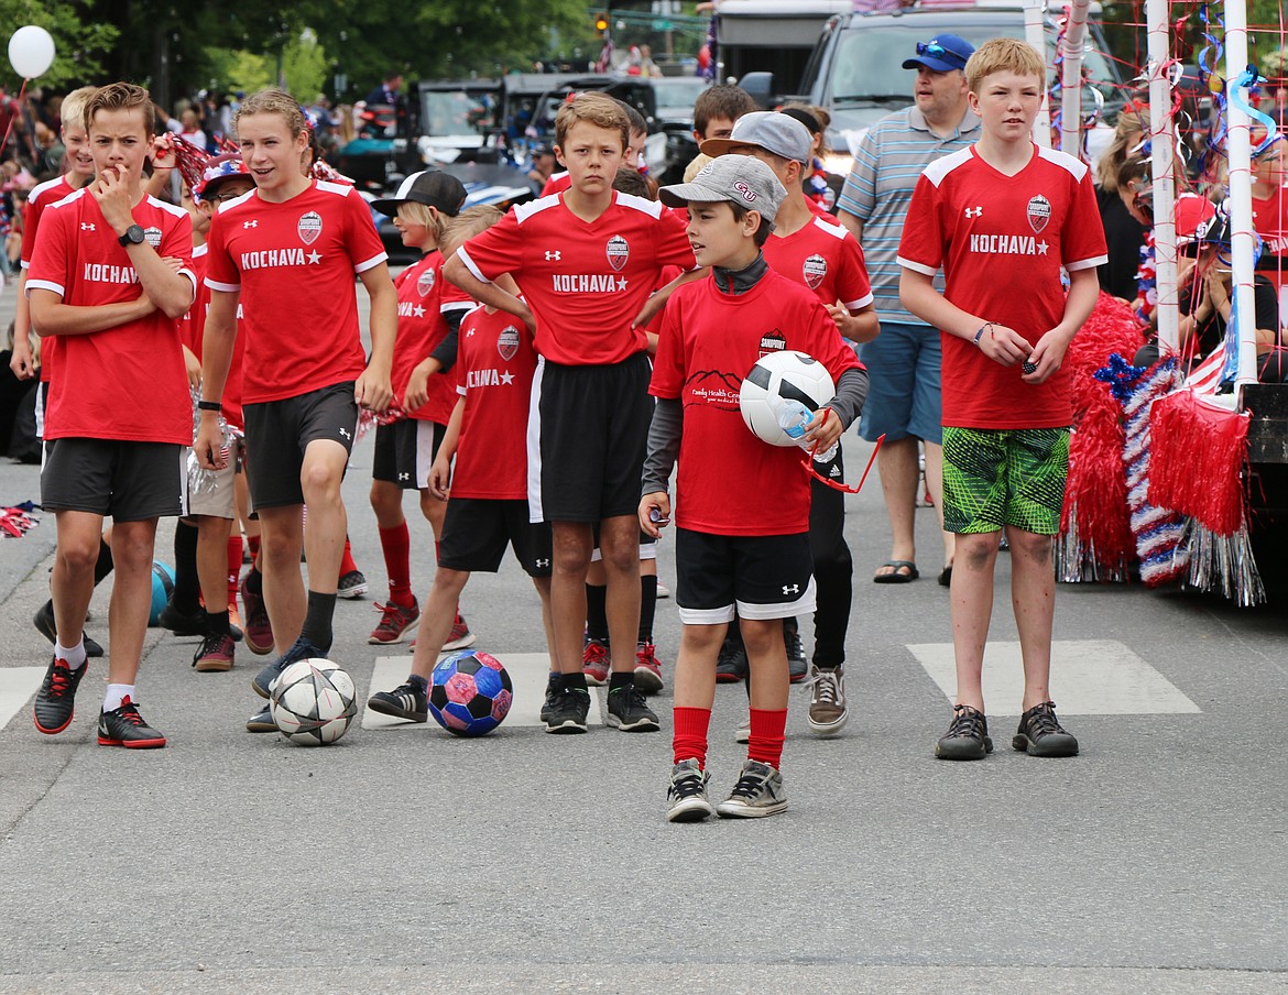
<instances>
[{"instance_id":1,"label":"red Kochava jersey on boy stepping beside white-and-gray ball","mask_svg":"<svg viewBox=\"0 0 1288 995\"><path fill-rule=\"evenodd\" d=\"M353 274L386 256L353 187L313 180L285 203L251 191L219 209L206 245L206 286L240 290L246 309L246 404L362 375L367 360Z\"/></svg>"}]
</instances>

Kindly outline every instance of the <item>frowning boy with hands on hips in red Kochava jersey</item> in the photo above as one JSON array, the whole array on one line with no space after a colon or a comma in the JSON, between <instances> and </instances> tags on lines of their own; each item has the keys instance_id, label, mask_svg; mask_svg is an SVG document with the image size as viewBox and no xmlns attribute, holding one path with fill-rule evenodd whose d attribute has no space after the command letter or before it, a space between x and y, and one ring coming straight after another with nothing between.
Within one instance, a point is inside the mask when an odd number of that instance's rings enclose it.
<instances>
[{"instance_id":1,"label":"frowning boy with hands on hips in red Kochava jersey","mask_svg":"<svg viewBox=\"0 0 1288 995\"><path fill-rule=\"evenodd\" d=\"M528 506L533 521L554 528L551 602L564 686L550 711L550 732L586 731L582 632L596 524L608 577L608 723L658 729L634 680L635 488L652 402L648 339L632 321L662 268L692 268L693 251L661 203L613 191L627 131L626 115L609 97L589 93L564 104L555 117L555 147L572 187L519 205L443 268L475 300L527 322L541 357L528 420ZM514 277L527 302L491 282L502 273Z\"/></svg>"}]
</instances>

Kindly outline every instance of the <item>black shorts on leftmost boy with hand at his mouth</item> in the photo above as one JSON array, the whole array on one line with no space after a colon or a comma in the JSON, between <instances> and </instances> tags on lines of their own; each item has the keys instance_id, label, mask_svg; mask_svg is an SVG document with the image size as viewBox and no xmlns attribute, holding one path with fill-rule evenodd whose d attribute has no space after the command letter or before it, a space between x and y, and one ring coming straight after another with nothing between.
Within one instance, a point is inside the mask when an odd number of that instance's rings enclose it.
<instances>
[{"instance_id":1,"label":"black shorts on leftmost boy with hand at his mouth","mask_svg":"<svg viewBox=\"0 0 1288 995\"><path fill-rule=\"evenodd\" d=\"M40 503L116 521L187 515L187 458L188 447L176 443L53 439L40 470Z\"/></svg>"}]
</instances>

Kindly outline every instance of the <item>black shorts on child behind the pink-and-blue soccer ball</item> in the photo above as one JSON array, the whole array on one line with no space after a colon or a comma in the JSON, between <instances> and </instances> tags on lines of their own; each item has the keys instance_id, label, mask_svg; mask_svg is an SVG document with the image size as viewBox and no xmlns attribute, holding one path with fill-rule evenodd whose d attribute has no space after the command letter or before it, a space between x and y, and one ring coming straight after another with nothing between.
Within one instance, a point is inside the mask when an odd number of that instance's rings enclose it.
<instances>
[{"instance_id":1,"label":"black shorts on child behind the pink-and-blue soccer ball","mask_svg":"<svg viewBox=\"0 0 1288 995\"><path fill-rule=\"evenodd\" d=\"M438 565L448 570L495 574L505 547L528 577L550 577L550 526L528 521L527 501L452 498L443 519Z\"/></svg>"}]
</instances>

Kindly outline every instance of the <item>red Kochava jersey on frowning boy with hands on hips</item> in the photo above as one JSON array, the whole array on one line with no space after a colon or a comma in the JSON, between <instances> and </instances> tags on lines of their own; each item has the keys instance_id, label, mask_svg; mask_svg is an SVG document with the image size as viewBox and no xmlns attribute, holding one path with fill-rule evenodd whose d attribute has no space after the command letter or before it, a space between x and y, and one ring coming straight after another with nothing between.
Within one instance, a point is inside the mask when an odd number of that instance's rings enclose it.
<instances>
[{"instance_id":1,"label":"red Kochava jersey on frowning boy with hands on hips","mask_svg":"<svg viewBox=\"0 0 1288 995\"><path fill-rule=\"evenodd\" d=\"M656 201L613 193L583 221L546 197L520 203L457 250L478 279L510 273L537 319L537 353L564 366L620 363L648 339L631 328L662 266L694 266L684 227Z\"/></svg>"}]
</instances>

